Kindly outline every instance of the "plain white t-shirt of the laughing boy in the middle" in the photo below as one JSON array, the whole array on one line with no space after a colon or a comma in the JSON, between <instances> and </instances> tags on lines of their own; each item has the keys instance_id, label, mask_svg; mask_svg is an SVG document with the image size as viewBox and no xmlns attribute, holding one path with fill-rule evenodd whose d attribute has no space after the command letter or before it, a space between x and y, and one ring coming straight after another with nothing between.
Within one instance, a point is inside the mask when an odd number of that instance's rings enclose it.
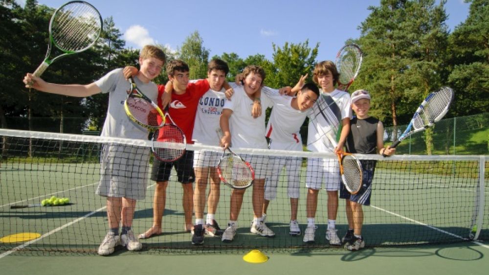
<instances>
[{"instance_id":1,"label":"plain white t-shirt of the laughing boy in the middle","mask_svg":"<svg viewBox=\"0 0 489 275\"><path fill-rule=\"evenodd\" d=\"M234 89L234 95L231 100L226 100L223 109L233 111L229 118L232 147L267 149L265 110L272 106L271 100L266 94L262 93L262 115L253 118L251 116L253 101L244 92L243 86L230 85Z\"/></svg>"}]
</instances>

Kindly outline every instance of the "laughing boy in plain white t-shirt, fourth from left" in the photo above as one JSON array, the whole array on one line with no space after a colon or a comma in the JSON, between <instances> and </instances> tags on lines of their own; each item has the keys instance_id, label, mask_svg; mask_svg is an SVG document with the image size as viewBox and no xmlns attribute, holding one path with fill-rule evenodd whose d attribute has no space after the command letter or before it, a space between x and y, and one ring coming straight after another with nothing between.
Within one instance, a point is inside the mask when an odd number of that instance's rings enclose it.
<instances>
[{"instance_id":1,"label":"laughing boy in plain white t-shirt, fourth from left","mask_svg":"<svg viewBox=\"0 0 489 275\"><path fill-rule=\"evenodd\" d=\"M263 86L265 70L259 66L250 65L244 68L244 85L234 87L234 95L231 100L226 100L221 115L222 138L221 145L224 148L258 148L267 149L265 138L265 112L257 118L253 118L251 109L255 95ZM272 106L267 95L262 94L261 104L263 110ZM255 169L253 183L252 205L253 222L250 231L266 237L274 237L275 233L267 228L261 221L264 200L265 176L267 172L267 158L259 155L241 155ZM222 234L223 242L232 242L238 228L238 216L243 204L244 189L234 189L231 192L230 215L228 227Z\"/></svg>"}]
</instances>

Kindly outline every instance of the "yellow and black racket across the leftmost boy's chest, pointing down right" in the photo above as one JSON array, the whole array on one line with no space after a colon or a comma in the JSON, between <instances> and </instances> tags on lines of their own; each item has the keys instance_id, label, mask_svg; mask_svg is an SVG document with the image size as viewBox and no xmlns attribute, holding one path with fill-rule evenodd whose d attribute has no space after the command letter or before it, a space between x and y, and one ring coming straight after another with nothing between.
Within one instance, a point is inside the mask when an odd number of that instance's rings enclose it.
<instances>
[{"instance_id":1,"label":"yellow and black racket across the leftmost boy's chest, pointing down right","mask_svg":"<svg viewBox=\"0 0 489 275\"><path fill-rule=\"evenodd\" d=\"M165 123L161 109L137 88L132 77L129 78L130 88L124 101L127 116L136 124L150 130L156 130Z\"/></svg>"}]
</instances>

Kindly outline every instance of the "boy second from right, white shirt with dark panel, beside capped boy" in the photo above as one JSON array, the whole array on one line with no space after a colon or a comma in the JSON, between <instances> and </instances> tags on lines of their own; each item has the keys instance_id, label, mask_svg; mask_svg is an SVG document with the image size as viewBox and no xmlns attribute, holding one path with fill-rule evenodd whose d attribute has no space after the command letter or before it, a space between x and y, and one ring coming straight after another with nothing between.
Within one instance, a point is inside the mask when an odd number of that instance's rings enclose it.
<instances>
[{"instance_id":1,"label":"boy second from right, white shirt with dark panel, beside capped boy","mask_svg":"<svg viewBox=\"0 0 489 275\"><path fill-rule=\"evenodd\" d=\"M328 106L322 110L323 115L317 115L315 119L309 121L308 126L308 149L313 152L337 152L343 148L346 138L350 131L350 94L336 90L334 86L338 81L339 73L332 61L322 61L316 64L312 80L321 87L323 102L317 102L312 108L314 114L321 114L317 108L318 103ZM342 124L341 134L338 145L334 147L325 134L332 133L336 136L339 126ZM335 229L336 215L338 212L338 189L341 178L339 174L339 164L336 159L316 159L308 160L306 187L308 187L306 209L308 226L304 231L304 242L314 243L314 235L317 227L315 226L315 216L317 209L317 197L319 190L326 184L328 194L328 227L326 239L330 245L339 246L341 240L338 238Z\"/></svg>"}]
</instances>

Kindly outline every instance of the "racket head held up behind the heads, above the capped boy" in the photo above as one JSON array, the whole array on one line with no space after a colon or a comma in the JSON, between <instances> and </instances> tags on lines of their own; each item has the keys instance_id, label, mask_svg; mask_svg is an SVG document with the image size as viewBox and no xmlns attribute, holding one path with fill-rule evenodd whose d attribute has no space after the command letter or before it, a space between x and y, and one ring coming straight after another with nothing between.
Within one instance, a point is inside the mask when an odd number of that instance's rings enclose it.
<instances>
[{"instance_id":1,"label":"racket head held up behind the heads, above the capped boy","mask_svg":"<svg viewBox=\"0 0 489 275\"><path fill-rule=\"evenodd\" d=\"M341 47L336 54L336 69L339 72L338 86L347 91L355 80L362 65L363 53L360 47L349 44Z\"/></svg>"}]
</instances>

